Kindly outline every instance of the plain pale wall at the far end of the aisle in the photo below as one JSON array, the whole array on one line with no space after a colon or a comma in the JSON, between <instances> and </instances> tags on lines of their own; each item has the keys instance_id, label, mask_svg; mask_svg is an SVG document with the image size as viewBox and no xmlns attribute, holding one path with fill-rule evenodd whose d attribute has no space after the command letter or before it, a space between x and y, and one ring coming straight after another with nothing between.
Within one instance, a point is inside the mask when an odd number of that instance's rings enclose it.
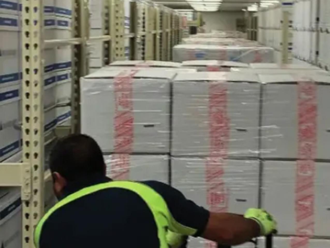
<instances>
[{"instance_id":1,"label":"plain pale wall at the far end of the aisle","mask_svg":"<svg viewBox=\"0 0 330 248\"><path fill-rule=\"evenodd\" d=\"M202 12L203 21L205 22L205 31L211 32L215 30L236 30L236 19L243 18L243 11L218 11L218 12Z\"/></svg>"}]
</instances>

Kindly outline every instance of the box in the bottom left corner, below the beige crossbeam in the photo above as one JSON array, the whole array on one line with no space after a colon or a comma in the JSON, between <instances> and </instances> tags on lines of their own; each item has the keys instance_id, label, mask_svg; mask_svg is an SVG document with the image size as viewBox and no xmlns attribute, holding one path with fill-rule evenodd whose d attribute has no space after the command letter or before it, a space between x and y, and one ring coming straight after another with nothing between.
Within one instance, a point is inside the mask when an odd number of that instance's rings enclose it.
<instances>
[{"instance_id":1,"label":"box in the bottom left corner, below the beige crossbeam","mask_svg":"<svg viewBox=\"0 0 330 248\"><path fill-rule=\"evenodd\" d=\"M19 188L0 189L0 244L22 247L22 203Z\"/></svg>"}]
</instances>

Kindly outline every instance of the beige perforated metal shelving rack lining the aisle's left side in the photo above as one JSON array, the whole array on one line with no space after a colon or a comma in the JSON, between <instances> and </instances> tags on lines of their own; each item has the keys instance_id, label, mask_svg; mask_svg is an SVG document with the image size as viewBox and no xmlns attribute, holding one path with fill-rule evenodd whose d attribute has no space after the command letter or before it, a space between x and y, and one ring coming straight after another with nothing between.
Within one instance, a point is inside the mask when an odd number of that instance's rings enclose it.
<instances>
[{"instance_id":1,"label":"beige perforated metal shelving rack lining the aisle's left side","mask_svg":"<svg viewBox=\"0 0 330 248\"><path fill-rule=\"evenodd\" d=\"M71 45L72 97L71 126L58 131L80 132L80 77L89 69L89 44L103 42L103 65L124 59L124 10L122 0L102 0L104 8L103 35L89 37L89 1L72 0L72 38L43 40L43 0L22 0L22 162L0 163L0 187L21 187L23 207L23 248L32 248L33 231L44 213L45 183L50 183L49 171L44 171L43 110L43 49ZM133 3L135 8L134 33L128 36L134 42L134 59L169 60L171 43L182 39L182 20L172 10L142 1ZM173 19L171 19L173 18ZM176 19L177 18L177 19ZM33 20L33 21L32 21ZM153 25L154 23L154 25ZM172 25L172 27L171 27ZM172 36L171 38L171 28ZM178 36L178 37L177 37ZM61 130L69 129L69 130ZM50 187L51 188L51 187Z\"/></svg>"}]
</instances>

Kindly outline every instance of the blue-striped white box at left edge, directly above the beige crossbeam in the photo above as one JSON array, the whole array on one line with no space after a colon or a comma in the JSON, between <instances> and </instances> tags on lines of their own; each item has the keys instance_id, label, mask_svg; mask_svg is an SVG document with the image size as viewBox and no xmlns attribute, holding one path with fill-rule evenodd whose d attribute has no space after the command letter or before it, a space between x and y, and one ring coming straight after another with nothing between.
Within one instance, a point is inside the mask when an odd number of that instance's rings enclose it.
<instances>
[{"instance_id":1,"label":"blue-striped white box at left edge, directly above the beige crossbeam","mask_svg":"<svg viewBox=\"0 0 330 248\"><path fill-rule=\"evenodd\" d=\"M0 161L19 151L20 104L18 85L0 89Z\"/></svg>"}]
</instances>

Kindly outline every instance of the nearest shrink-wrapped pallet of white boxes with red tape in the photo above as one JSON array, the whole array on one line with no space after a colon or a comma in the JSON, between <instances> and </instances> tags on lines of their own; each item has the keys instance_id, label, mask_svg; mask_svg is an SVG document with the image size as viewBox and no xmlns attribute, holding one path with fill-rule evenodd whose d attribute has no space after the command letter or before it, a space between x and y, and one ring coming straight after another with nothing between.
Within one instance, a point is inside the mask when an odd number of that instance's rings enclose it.
<instances>
[{"instance_id":1,"label":"nearest shrink-wrapped pallet of white boxes with red tape","mask_svg":"<svg viewBox=\"0 0 330 248\"><path fill-rule=\"evenodd\" d=\"M264 207L279 222L275 247L321 248L330 244L315 238L330 233L330 76L271 70L101 69L81 79L82 132L114 179L170 183L217 212Z\"/></svg>"}]
</instances>

